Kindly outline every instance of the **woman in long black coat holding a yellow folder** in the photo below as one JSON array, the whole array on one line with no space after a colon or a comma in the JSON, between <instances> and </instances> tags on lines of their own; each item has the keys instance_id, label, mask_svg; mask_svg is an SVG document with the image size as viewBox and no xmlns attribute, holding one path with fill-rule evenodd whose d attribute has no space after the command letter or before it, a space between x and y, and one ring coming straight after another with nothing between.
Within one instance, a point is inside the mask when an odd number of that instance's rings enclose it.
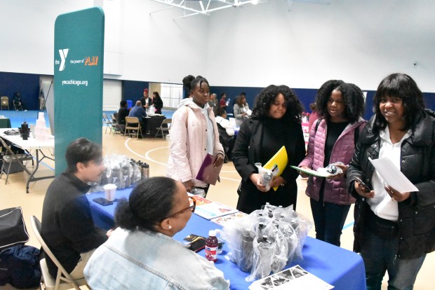
<instances>
[{"instance_id":1,"label":"woman in long black coat holding a yellow folder","mask_svg":"<svg viewBox=\"0 0 435 290\"><path fill-rule=\"evenodd\" d=\"M237 202L241 212L250 214L266 202L296 208L297 171L290 165L299 164L305 156L301 116L302 104L286 85L269 85L257 96L252 116L241 124L232 151L234 166L242 178ZM272 179L267 191L255 163L265 165L282 146L286 146L288 165L281 176Z\"/></svg>"}]
</instances>

